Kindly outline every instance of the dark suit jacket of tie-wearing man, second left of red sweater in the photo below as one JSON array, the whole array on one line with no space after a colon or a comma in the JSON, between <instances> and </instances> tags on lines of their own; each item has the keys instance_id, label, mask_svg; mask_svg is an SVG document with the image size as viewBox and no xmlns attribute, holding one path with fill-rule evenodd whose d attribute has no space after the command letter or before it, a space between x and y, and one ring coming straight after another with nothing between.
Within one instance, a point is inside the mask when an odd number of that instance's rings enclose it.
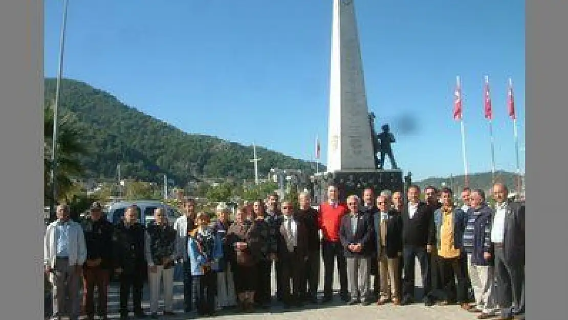
<instances>
[{"instance_id":1,"label":"dark suit jacket of tie-wearing man, second left of red sweater","mask_svg":"<svg viewBox=\"0 0 568 320\"><path fill-rule=\"evenodd\" d=\"M278 228L278 257L283 261L287 259L305 259L308 256L308 230L306 223L295 214L292 216L293 221L296 222L296 248L295 252L292 244L286 236L286 221L282 218L281 225ZM289 261L289 260L288 260ZM293 261L291 261L293 262Z\"/></svg>"}]
</instances>

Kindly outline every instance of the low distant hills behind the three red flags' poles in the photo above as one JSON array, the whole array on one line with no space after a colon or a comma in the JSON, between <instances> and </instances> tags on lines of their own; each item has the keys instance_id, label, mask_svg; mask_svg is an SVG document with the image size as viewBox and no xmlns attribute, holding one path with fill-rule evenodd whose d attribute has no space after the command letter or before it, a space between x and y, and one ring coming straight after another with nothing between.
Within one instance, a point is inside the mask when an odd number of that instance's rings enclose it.
<instances>
[{"instance_id":1,"label":"low distant hills behind the three red flags' poles","mask_svg":"<svg viewBox=\"0 0 568 320\"><path fill-rule=\"evenodd\" d=\"M489 190L494 184L491 172L468 174L467 180L469 182L469 187L472 189L479 188L482 190ZM509 187L509 189L516 190L517 174L506 171L497 171L495 172L495 182L504 183ZM420 186L420 189L424 189L429 185L440 188L442 184L445 184L445 186L448 187L453 184L454 192L458 192L458 190L461 190L463 186L465 186L465 176L460 175L445 178L429 177L422 181L415 181L415 183Z\"/></svg>"}]
</instances>

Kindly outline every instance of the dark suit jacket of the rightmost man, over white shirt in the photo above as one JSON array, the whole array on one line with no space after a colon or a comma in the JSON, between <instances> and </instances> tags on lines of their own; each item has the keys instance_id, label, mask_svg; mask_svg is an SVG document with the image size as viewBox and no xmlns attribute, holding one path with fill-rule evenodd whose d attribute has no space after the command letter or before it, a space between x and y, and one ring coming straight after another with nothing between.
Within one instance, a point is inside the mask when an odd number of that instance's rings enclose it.
<instances>
[{"instance_id":1,"label":"dark suit jacket of the rightmost man, over white shirt","mask_svg":"<svg viewBox=\"0 0 568 320\"><path fill-rule=\"evenodd\" d=\"M525 206L519 202L507 202L505 235L503 237L505 259L511 264L525 263Z\"/></svg>"}]
</instances>

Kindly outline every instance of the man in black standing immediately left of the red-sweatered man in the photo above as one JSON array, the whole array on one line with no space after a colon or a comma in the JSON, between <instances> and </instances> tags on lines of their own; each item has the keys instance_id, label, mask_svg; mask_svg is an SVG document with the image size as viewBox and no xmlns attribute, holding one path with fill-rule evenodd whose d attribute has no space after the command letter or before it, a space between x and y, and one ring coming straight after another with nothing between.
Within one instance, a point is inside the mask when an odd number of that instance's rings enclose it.
<instances>
[{"instance_id":1,"label":"man in black standing immediately left of the red-sweatered man","mask_svg":"<svg viewBox=\"0 0 568 320\"><path fill-rule=\"evenodd\" d=\"M302 282L302 295L312 304L318 303L318 284L320 269L320 238L318 227L318 211L310 207L310 193L302 192L298 196L300 210L298 218L302 219L306 226L308 236L308 260L304 269ZM307 292L306 292L307 288Z\"/></svg>"}]
</instances>

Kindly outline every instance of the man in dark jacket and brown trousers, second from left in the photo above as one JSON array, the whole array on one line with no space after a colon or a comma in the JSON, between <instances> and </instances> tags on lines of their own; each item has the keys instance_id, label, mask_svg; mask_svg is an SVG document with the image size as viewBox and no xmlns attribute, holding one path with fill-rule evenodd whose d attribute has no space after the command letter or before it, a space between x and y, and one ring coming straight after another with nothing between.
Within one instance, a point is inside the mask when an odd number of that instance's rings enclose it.
<instances>
[{"instance_id":1,"label":"man in dark jacket and brown trousers, second from left","mask_svg":"<svg viewBox=\"0 0 568 320\"><path fill-rule=\"evenodd\" d=\"M95 286L98 288L99 319L107 319L107 294L112 261L112 224L102 214L98 202L91 205L91 215L83 223L87 260L83 265L83 309L87 319L94 319Z\"/></svg>"}]
</instances>

